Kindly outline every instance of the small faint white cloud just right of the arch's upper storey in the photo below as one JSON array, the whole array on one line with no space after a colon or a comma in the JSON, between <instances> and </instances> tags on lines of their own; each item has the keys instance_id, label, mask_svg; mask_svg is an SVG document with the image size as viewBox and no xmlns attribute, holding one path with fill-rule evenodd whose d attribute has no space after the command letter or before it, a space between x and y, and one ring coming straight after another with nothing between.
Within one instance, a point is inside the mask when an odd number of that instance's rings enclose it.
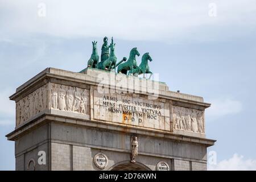
<instances>
[{"instance_id":1,"label":"small faint white cloud just right of the arch's upper storey","mask_svg":"<svg viewBox=\"0 0 256 182\"><path fill-rule=\"evenodd\" d=\"M237 114L242 111L242 104L237 100L220 98L212 100L210 103L212 105L207 110L205 110L205 114L208 118L223 117L224 115Z\"/></svg>"}]
</instances>

